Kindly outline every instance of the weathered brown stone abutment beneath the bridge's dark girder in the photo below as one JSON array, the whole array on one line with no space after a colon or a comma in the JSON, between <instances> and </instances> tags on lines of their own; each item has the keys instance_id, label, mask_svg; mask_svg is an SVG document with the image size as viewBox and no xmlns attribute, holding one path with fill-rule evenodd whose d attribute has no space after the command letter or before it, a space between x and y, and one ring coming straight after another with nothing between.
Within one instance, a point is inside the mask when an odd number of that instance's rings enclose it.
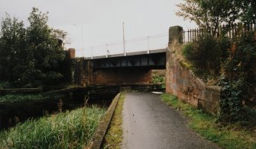
<instances>
[{"instance_id":1,"label":"weathered brown stone abutment beneath the bridge's dark girder","mask_svg":"<svg viewBox=\"0 0 256 149\"><path fill-rule=\"evenodd\" d=\"M73 59L70 71L72 82L78 86L89 85L125 85L150 84L151 69L149 68L99 68L93 70L91 60Z\"/></svg>"}]
</instances>

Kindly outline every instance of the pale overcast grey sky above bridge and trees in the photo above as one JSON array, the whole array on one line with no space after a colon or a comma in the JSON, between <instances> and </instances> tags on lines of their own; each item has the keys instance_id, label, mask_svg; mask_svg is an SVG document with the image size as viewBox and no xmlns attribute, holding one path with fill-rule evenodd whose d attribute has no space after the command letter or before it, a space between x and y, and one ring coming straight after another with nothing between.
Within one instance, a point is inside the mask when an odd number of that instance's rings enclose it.
<instances>
[{"instance_id":1,"label":"pale overcast grey sky above bridge and trees","mask_svg":"<svg viewBox=\"0 0 256 149\"><path fill-rule=\"evenodd\" d=\"M146 37L141 41L126 43L125 50L132 51L134 45L141 45L141 49L154 49L161 39L162 43L159 44L167 45L169 27L179 25L183 30L196 27L190 21L184 21L183 17L175 15L178 11L176 5L180 2L183 1L0 0L0 17L5 18L6 12L28 25L28 16L33 7L44 13L48 11L48 25L68 33L66 49L75 48L78 55L89 56L97 53L100 55L100 50L109 49L112 54L114 49L122 49L123 22L125 40ZM154 42L154 37L148 37L151 40L147 42L147 36L157 34L160 34L158 40ZM114 48L115 44L111 43L119 41L121 43ZM81 52L81 49L84 49L84 52Z\"/></svg>"}]
</instances>

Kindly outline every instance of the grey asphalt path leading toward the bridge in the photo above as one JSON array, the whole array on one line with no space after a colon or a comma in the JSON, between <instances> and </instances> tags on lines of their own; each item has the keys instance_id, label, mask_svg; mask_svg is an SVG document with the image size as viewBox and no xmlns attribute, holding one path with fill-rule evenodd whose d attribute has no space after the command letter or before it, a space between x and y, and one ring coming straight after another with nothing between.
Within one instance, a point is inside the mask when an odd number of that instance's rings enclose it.
<instances>
[{"instance_id":1,"label":"grey asphalt path leading toward the bridge","mask_svg":"<svg viewBox=\"0 0 256 149\"><path fill-rule=\"evenodd\" d=\"M132 92L123 106L122 148L219 148L187 128L188 120L160 94Z\"/></svg>"}]
</instances>

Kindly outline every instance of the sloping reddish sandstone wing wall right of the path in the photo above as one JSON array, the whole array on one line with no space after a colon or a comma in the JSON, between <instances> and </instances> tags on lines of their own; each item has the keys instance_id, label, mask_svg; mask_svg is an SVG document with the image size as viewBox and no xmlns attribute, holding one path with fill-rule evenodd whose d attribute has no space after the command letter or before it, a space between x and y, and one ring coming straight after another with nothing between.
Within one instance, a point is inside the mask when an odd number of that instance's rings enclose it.
<instances>
[{"instance_id":1,"label":"sloping reddish sandstone wing wall right of the path","mask_svg":"<svg viewBox=\"0 0 256 149\"><path fill-rule=\"evenodd\" d=\"M180 30L180 27L176 28ZM170 50L173 47L171 44L169 46L166 64L166 92L215 115L219 109L221 87L207 86L202 80L196 78L192 71L180 65L176 55Z\"/></svg>"}]
</instances>

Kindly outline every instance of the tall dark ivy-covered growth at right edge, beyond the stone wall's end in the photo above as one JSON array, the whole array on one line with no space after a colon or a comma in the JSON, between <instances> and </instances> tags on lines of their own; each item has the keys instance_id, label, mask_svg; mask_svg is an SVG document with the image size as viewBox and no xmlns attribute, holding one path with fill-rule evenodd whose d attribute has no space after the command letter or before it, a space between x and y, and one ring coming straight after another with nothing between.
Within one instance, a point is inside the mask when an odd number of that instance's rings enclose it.
<instances>
[{"instance_id":1,"label":"tall dark ivy-covered growth at right edge, beyond the stone wall's end","mask_svg":"<svg viewBox=\"0 0 256 149\"><path fill-rule=\"evenodd\" d=\"M248 122L250 114L243 103L251 98L256 85L256 43L254 33L235 39L232 52L222 65L221 119L224 122Z\"/></svg>"}]
</instances>

